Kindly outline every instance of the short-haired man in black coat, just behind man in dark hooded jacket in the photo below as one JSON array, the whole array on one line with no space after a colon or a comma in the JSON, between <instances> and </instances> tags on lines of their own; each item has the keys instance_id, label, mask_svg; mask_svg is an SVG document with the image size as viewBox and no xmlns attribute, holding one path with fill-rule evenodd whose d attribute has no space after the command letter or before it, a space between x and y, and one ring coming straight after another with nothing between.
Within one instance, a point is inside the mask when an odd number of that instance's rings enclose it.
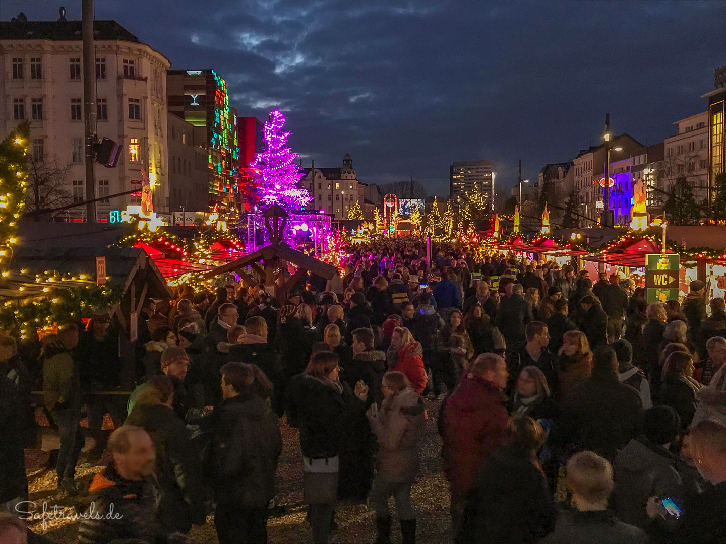
<instances>
[{"instance_id":1,"label":"short-haired man in black coat, just behind man in dark hooded jacket","mask_svg":"<svg viewBox=\"0 0 726 544\"><path fill-rule=\"evenodd\" d=\"M246 334L237 339L237 344L229 348L224 363L237 360L258 366L274 386L272 408L278 416L285 411L285 370L282 368L280 354L267 342L267 322L262 316L253 316L245 321Z\"/></svg>"}]
</instances>

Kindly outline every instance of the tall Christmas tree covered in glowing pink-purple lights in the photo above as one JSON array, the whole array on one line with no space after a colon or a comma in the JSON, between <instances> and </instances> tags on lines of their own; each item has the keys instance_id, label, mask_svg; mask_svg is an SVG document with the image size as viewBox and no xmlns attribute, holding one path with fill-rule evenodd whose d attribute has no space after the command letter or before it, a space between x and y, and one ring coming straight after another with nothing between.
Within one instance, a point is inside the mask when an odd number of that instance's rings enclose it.
<instances>
[{"instance_id":1,"label":"tall Christmas tree covered in glowing pink-purple lights","mask_svg":"<svg viewBox=\"0 0 726 544\"><path fill-rule=\"evenodd\" d=\"M290 132L282 130L285 122L282 112L270 112L269 120L262 127L265 150L255 155L250 167L258 172L255 185L262 207L277 204L287 212L298 212L312 197L298 185L303 178L303 170L295 164L299 155L287 147Z\"/></svg>"}]
</instances>

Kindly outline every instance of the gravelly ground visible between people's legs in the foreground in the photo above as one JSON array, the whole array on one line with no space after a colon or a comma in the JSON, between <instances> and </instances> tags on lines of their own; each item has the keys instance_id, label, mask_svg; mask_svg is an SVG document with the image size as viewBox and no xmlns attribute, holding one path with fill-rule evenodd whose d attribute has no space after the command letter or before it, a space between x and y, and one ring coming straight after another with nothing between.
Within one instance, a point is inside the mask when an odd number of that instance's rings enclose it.
<instances>
[{"instance_id":1,"label":"gravelly ground visible between people's legs in the foreground","mask_svg":"<svg viewBox=\"0 0 726 544\"><path fill-rule=\"evenodd\" d=\"M418 541L427 544L449 544L451 524L449 522L449 494L444 470L441 464L441 441L436 432L436 415L439 403L427 405L429 419L426 421L424 437L421 445L422 469L417 483L413 487L412 501L418 512ZM269 542L300 543L312 542L310 528L305 522L305 506L302 493L301 453L298 432L281 424L284 449L277 471L278 503L285 506L285 514L268 522ZM39 466L46 463L47 454L40 452L28 453L28 466ZM93 474L102 469L101 464L88 463L81 458L78 477L81 487L87 489ZM49 506L55 504L65 508L67 516L76 511L82 512L88 505L88 498L83 493L77 498L69 498L64 492L56 490L54 471L49 469L31 469L28 472L30 500L35 501L36 510L40 511L45 501ZM372 543L375 540L374 515L366 506L359 504L339 503L335 521L338 532L333 535L333 543ZM46 522L33 522L30 528L44 533L58 544L76 542L76 522L73 519L54 519ZM192 540L195 544L216 543L213 519L210 516L203 527L192 529ZM401 541L399 527L394 524L393 543Z\"/></svg>"}]
</instances>

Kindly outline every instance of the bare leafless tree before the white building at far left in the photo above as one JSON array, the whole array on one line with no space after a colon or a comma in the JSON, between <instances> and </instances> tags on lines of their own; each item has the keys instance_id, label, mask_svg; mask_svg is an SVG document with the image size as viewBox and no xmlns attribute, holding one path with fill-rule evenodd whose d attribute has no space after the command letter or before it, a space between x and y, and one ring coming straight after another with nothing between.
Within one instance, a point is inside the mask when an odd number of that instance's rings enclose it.
<instances>
[{"instance_id":1,"label":"bare leafless tree before the white building at far left","mask_svg":"<svg viewBox=\"0 0 726 544\"><path fill-rule=\"evenodd\" d=\"M28 155L28 186L25 190L25 212L38 212L73 202L68 191L70 164L62 165L58 157ZM41 215L35 215L40 221Z\"/></svg>"}]
</instances>

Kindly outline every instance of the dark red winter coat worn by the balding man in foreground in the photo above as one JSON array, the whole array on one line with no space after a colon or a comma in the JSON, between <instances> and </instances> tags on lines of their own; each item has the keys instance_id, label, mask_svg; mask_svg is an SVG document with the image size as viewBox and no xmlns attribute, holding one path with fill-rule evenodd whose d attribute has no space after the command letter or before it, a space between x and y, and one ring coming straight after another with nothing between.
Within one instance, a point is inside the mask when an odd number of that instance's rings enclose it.
<instances>
[{"instance_id":1,"label":"dark red winter coat worn by the balding man in foreground","mask_svg":"<svg viewBox=\"0 0 726 544\"><path fill-rule=\"evenodd\" d=\"M439 434L452 500L471 489L486 458L504 445L507 419L504 395L482 378L462 379L444 401Z\"/></svg>"}]
</instances>

